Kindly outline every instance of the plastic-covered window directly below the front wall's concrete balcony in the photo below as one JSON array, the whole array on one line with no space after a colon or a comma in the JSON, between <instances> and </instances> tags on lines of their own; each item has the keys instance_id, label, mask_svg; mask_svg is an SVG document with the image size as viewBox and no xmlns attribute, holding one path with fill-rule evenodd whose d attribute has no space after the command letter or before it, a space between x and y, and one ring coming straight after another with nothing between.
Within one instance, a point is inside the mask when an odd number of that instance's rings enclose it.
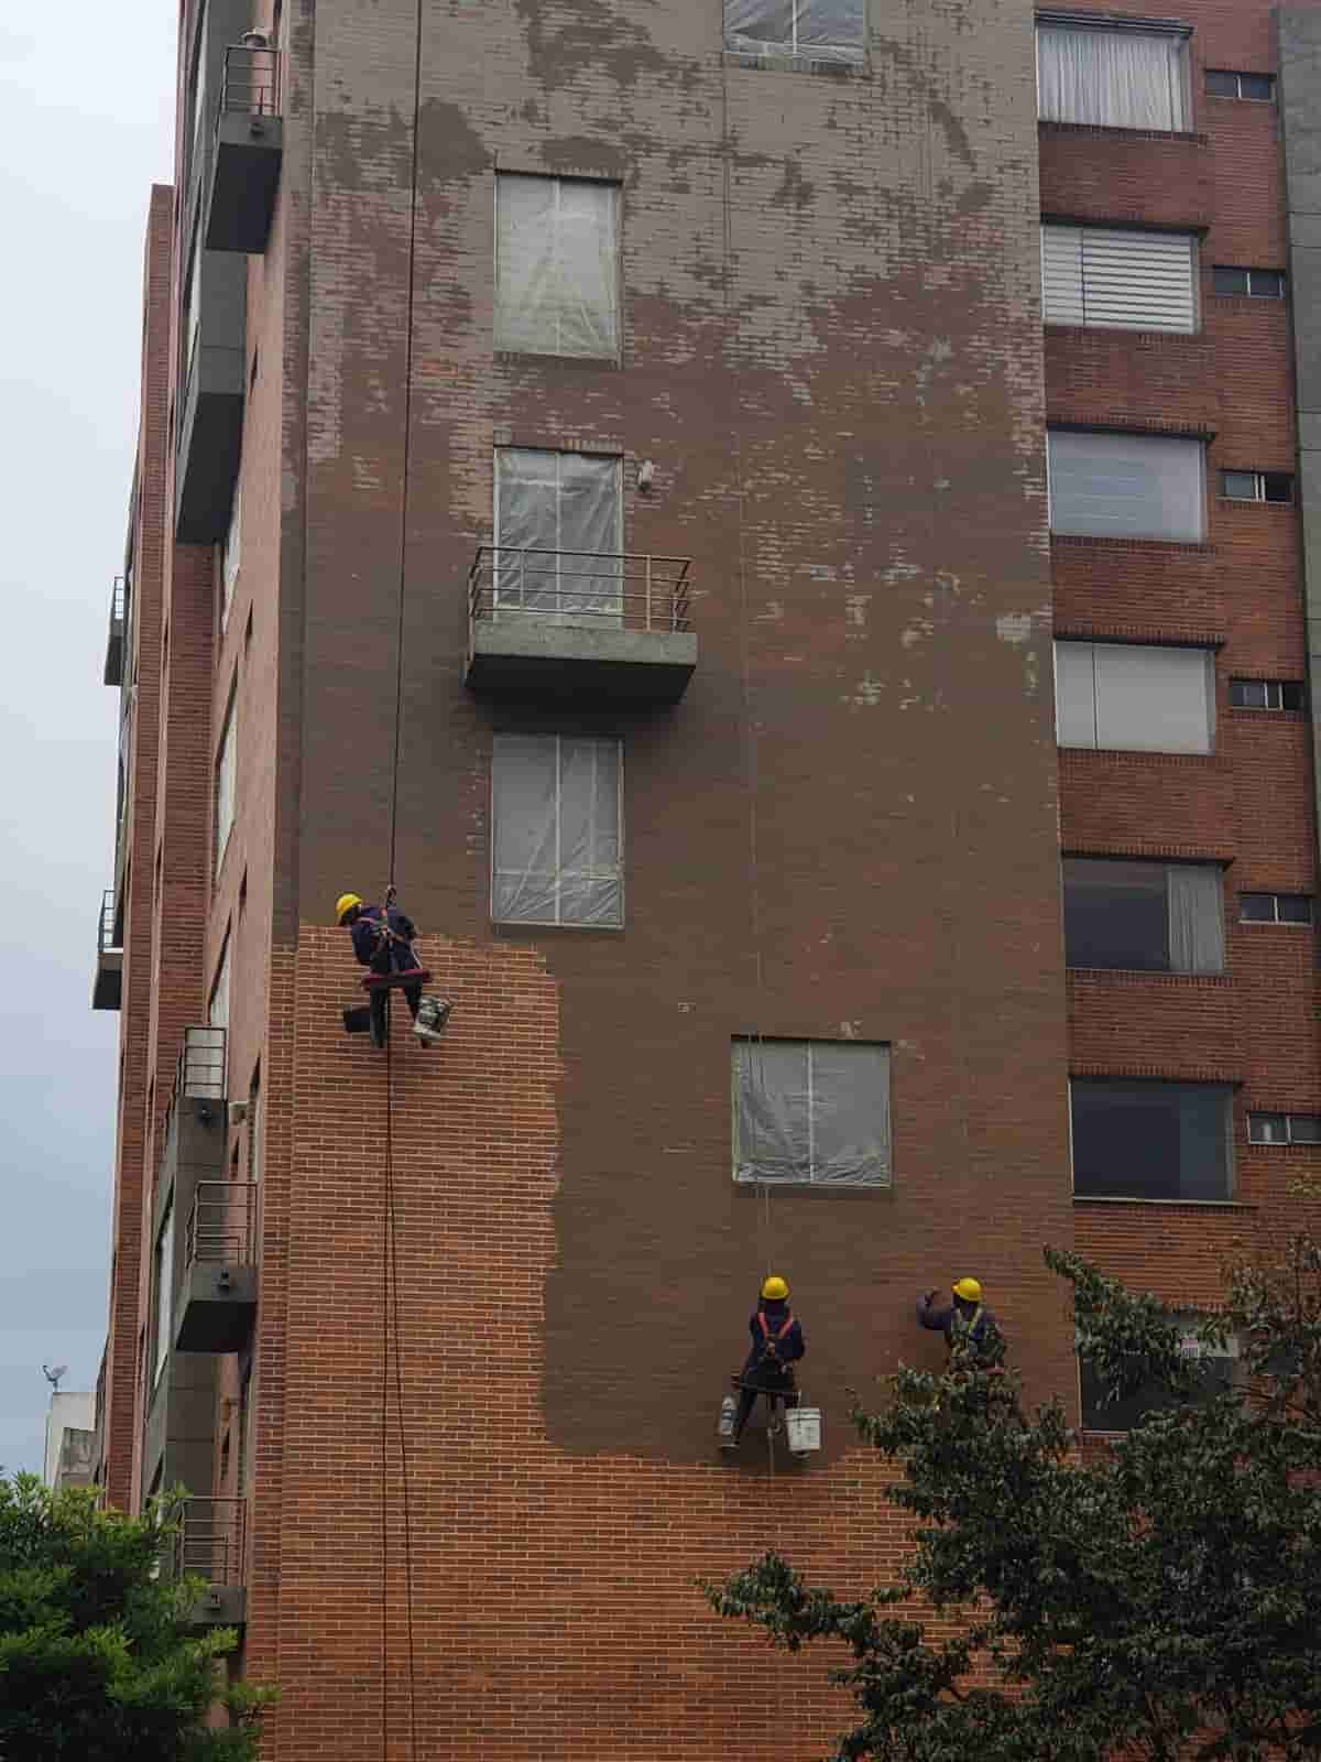
<instances>
[{"instance_id":1,"label":"plastic-covered window directly below the front wall's concrete balcony","mask_svg":"<svg viewBox=\"0 0 1321 1762\"><path fill-rule=\"evenodd\" d=\"M624 923L620 742L497 735L491 916L500 923Z\"/></svg>"}]
</instances>

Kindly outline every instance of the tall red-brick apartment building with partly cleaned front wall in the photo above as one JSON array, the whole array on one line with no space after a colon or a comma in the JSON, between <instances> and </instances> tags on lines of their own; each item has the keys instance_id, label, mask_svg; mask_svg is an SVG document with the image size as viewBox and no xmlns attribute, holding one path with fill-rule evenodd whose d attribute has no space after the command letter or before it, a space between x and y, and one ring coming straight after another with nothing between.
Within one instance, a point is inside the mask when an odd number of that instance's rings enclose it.
<instances>
[{"instance_id":1,"label":"tall red-brick apartment building with partly cleaned front wall","mask_svg":"<svg viewBox=\"0 0 1321 1762\"><path fill-rule=\"evenodd\" d=\"M183 7L100 1480L188 1487L271 1758L821 1753L823 1660L768 1692L694 1581L884 1579L847 1390L939 1362L914 1293L976 1272L1076 1413L1043 1244L1214 1302L1316 1165L1314 21L1041 12L1039 104L1025 0ZM1069 111L1113 44L1143 127ZM1055 643L1117 735L1057 742ZM343 1033L391 879L439 1048ZM715 1447L771 1267L807 1461Z\"/></svg>"}]
</instances>

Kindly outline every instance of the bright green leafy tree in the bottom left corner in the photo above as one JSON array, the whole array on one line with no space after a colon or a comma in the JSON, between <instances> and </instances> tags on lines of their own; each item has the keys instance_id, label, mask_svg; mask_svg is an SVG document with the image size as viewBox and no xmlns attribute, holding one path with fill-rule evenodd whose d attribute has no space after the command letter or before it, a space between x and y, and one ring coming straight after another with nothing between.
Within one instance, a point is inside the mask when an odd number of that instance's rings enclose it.
<instances>
[{"instance_id":1,"label":"bright green leafy tree in the bottom left corner","mask_svg":"<svg viewBox=\"0 0 1321 1762\"><path fill-rule=\"evenodd\" d=\"M232 1628L192 1632L204 1586L160 1572L178 1501L146 1517L90 1489L0 1478L0 1762L250 1762L269 1690L227 1690ZM208 1730L215 1704L234 1723Z\"/></svg>"}]
</instances>

